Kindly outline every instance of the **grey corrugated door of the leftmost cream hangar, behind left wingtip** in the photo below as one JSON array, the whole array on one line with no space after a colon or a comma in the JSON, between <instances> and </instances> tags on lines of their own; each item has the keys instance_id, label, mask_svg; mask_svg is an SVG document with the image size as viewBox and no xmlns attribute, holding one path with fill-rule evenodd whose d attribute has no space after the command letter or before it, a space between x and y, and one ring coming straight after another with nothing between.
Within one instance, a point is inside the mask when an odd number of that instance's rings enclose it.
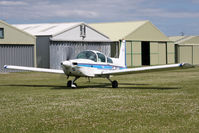
<instances>
[{"instance_id":1,"label":"grey corrugated door of the leftmost cream hangar, behind left wingtip","mask_svg":"<svg viewBox=\"0 0 199 133\"><path fill-rule=\"evenodd\" d=\"M4 70L4 65L34 67L34 46L0 45L1 72L18 72L18 70Z\"/></svg>"}]
</instances>

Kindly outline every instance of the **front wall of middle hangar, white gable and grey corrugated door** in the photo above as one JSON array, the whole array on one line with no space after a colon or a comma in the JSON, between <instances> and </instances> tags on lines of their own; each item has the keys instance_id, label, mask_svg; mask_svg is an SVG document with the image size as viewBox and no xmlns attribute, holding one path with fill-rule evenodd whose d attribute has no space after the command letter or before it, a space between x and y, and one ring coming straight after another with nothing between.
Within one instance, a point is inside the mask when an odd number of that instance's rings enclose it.
<instances>
[{"instance_id":1,"label":"front wall of middle hangar, white gable and grey corrugated door","mask_svg":"<svg viewBox=\"0 0 199 133\"><path fill-rule=\"evenodd\" d=\"M60 62L74 59L84 50L97 50L110 56L111 43L108 37L85 24L53 36L50 40L50 68L52 69L61 69Z\"/></svg>"}]
</instances>

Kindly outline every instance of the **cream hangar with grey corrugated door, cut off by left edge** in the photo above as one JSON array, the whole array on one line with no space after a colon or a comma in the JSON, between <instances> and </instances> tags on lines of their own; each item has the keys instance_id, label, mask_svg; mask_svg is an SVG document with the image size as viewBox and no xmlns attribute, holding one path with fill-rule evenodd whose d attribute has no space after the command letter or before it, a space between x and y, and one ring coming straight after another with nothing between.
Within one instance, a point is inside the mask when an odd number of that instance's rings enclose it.
<instances>
[{"instance_id":1,"label":"cream hangar with grey corrugated door, cut off by left edge","mask_svg":"<svg viewBox=\"0 0 199 133\"><path fill-rule=\"evenodd\" d=\"M36 38L0 20L0 68L5 64L36 66ZM12 70L13 71L13 70Z\"/></svg>"}]
</instances>

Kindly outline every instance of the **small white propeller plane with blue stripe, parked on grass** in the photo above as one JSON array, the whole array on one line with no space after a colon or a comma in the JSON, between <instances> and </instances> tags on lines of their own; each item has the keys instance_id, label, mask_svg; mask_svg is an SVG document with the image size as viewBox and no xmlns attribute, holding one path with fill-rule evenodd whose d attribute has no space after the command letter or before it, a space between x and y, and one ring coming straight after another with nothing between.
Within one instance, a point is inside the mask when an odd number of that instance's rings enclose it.
<instances>
[{"instance_id":1,"label":"small white propeller plane with blue stripe, parked on grass","mask_svg":"<svg viewBox=\"0 0 199 133\"><path fill-rule=\"evenodd\" d=\"M148 70L186 67L187 63L127 68L126 41L123 40L120 47L119 58L111 58L105 56L99 51L87 50L80 52L77 55L76 59L63 61L61 62L60 65L62 67L62 70L13 66L13 65L5 65L4 68L14 69L14 70L48 72L48 73L64 73L68 78L69 76L75 77L73 80L69 80L67 82L67 87L72 87L72 88L77 87L75 81L80 77L107 78L111 82L112 87L117 88L118 82L116 80L112 81L110 79L112 75L123 75L123 74L132 74Z\"/></svg>"}]
</instances>

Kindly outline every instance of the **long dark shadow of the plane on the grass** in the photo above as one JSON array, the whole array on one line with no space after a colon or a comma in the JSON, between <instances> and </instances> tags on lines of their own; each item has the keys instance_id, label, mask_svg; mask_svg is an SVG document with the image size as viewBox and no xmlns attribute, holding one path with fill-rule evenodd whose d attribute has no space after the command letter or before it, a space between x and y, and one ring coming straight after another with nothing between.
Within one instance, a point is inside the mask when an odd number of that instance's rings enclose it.
<instances>
[{"instance_id":1,"label":"long dark shadow of the plane on the grass","mask_svg":"<svg viewBox=\"0 0 199 133\"><path fill-rule=\"evenodd\" d=\"M121 85L121 86L120 86ZM172 90L172 89L180 89L179 87L160 87L160 86L148 86L149 84L132 84L132 83L119 83L118 88L112 88L110 83L92 83L92 84L86 84L86 85L79 85L75 89L84 89L84 88L108 88L108 89L156 89L156 90ZM13 87L46 87L50 89L74 89L66 86L60 86L60 85L22 85L22 84L9 84L9 85L0 85L0 86L13 86Z\"/></svg>"}]
</instances>

